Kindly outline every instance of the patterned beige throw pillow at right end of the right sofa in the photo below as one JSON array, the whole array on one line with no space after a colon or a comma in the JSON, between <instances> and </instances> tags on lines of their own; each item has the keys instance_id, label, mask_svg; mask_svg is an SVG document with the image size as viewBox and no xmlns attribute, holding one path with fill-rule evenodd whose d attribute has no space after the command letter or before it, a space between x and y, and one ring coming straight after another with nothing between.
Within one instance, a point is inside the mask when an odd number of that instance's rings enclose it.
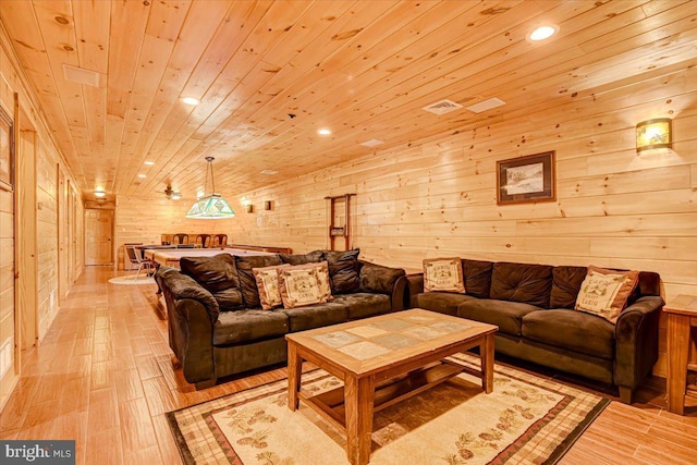
<instances>
[{"instance_id":1,"label":"patterned beige throw pillow at right end of the right sofa","mask_svg":"<svg viewBox=\"0 0 697 465\"><path fill-rule=\"evenodd\" d=\"M574 309L597 315L614 325L638 282L638 271L614 271L589 266Z\"/></svg>"}]
</instances>

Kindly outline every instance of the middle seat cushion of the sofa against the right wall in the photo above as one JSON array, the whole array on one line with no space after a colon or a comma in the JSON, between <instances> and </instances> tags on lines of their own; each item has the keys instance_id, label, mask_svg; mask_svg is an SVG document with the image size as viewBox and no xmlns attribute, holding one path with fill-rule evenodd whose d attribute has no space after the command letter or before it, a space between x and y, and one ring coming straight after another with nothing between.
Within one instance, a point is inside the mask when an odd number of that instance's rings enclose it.
<instances>
[{"instance_id":1,"label":"middle seat cushion of the sofa against the right wall","mask_svg":"<svg viewBox=\"0 0 697 465\"><path fill-rule=\"evenodd\" d=\"M499 327L499 332L521 335L523 317L540 308L529 304L490 298L472 298L457 306L457 316Z\"/></svg>"}]
</instances>

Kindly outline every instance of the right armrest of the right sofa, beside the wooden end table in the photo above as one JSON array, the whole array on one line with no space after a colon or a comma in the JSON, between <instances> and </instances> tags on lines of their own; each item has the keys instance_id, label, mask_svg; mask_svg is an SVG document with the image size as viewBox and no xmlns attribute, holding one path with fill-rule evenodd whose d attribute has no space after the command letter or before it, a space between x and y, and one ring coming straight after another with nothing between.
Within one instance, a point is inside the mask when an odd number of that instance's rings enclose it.
<instances>
[{"instance_id":1,"label":"right armrest of the right sofa, beside the wooden end table","mask_svg":"<svg viewBox=\"0 0 697 465\"><path fill-rule=\"evenodd\" d=\"M615 325L614 383L634 390L658 360L658 320L663 299L639 297L625 308Z\"/></svg>"}]
</instances>

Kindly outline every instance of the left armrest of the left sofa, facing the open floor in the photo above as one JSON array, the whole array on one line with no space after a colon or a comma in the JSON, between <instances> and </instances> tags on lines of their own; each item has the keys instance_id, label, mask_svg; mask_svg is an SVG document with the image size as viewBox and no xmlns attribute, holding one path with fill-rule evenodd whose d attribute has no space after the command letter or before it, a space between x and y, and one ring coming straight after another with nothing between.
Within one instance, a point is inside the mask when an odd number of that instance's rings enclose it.
<instances>
[{"instance_id":1,"label":"left armrest of the left sofa, facing the open floor","mask_svg":"<svg viewBox=\"0 0 697 465\"><path fill-rule=\"evenodd\" d=\"M192 278L168 267L156 273L167 303L169 343L182 364L186 381L216 379L213 325L220 309L216 298Z\"/></svg>"}]
</instances>

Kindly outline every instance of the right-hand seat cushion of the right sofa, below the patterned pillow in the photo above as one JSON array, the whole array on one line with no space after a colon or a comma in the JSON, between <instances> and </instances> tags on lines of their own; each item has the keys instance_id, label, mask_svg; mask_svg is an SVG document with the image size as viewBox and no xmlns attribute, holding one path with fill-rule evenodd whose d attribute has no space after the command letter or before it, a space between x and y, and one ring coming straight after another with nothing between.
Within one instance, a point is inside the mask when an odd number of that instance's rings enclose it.
<instances>
[{"instance_id":1,"label":"right-hand seat cushion of the right sofa, below the patterned pillow","mask_svg":"<svg viewBox=\"0 0 697 465\"><path fill-rule=\"evenodd\" d=\"M614 325L567 309L533 311L523 317L523 336L594 357L614 356Z\"/></svg>"}]
</instances>

